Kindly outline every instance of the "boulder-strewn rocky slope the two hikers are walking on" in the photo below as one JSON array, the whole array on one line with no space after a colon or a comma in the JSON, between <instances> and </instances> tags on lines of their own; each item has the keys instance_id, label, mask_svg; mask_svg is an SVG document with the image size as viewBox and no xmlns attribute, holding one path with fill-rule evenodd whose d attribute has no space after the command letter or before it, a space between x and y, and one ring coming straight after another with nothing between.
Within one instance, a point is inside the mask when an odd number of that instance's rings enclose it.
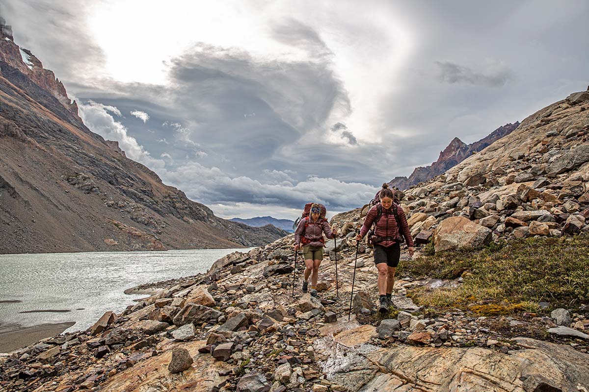
<instances>
[{"instance_id":1,"label":"boulder-strewn rocky slope the two hikers are walking on","mask_svg":"<svg viewBox=\"0 0 589 392\"><path fill-rule=\"evenodd\" d=\"M326 244L320 299L300 292L303 263L290 234L229 254L206 274L153 284L160 292L121 314L107 312L87 331L0 357L0 385L35 392L587 391L587 109L589 91L574 93L402 195L420 245L413 260L403 250L387 314L374 310L372 249L354 239L358 208L332 219L342 237ZM555 270L541 264L551 246ZM431 277L435 257L451 278ZM469 264L475 258L495 269L494 281ZM501 293L508 274L516 278L512 293ZM544 287L547 277L557 283ZM526 303L509 302L523 292L531 293ZM534 303L538 297L551 303Z\"/></svg>"}]
</instances>

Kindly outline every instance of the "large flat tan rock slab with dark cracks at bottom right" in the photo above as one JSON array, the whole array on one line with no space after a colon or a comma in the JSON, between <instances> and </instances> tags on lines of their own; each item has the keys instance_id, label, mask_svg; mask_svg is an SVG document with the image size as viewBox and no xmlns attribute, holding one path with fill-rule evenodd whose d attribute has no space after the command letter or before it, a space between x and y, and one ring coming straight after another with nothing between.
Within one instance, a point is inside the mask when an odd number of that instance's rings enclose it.
<instances>
[{"instance_id":1,"label":"large flat tan rock slab with dark cracks at bottom right","mask_svg":"<svg viewBox=\"0 0 589 392\"><path fill-rule=\"evenodd\" d=\"M329 336L313 348L327 358L322 363L327 380L350 392L524 392L523 375L537 375L562 391L589 385L589 354L546 341L515 340L527 348L509 354L480 347L343 348L334 340L330 344Z\"/></svg>"}]
</instances>

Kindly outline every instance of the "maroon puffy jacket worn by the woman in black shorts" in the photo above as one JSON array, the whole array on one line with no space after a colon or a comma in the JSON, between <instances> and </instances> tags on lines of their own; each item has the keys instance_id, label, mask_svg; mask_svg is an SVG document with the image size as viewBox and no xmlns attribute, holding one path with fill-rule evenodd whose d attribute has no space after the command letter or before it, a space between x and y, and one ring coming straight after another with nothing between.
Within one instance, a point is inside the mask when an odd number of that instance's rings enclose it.
<instances>
[{"instance_id":1,"label":"maroon puffy jacket worn by the woman in black shorts","mask_svg":"<svg viewBox=\"0 0 589 392\"><path fill-rule=\"evenodd\" d=\"M397 209L399 223L401 223L401 233L403 233L403 237L405 237L407 245L413 246L413 238L411 237L411 231L409 231L409 225L407 224L405 211L403 211L401 206L396 204L393 204L388 210L382 207L382 215L380 215L380 219L378 222L376 222L376 229L374 232L375 236L390 238L401 237L399 234L399 227L397 226L397 220L395 219L395 214L392 210L393 208ZM360 229L360 235L362 237L369 232L370 227L372 227L372 223L374 223L374 220L376 219L376 215L378 215L378 205L372 207L366 215L366 218L364 219L364 225L362 225L362 229ZM391 246L394 243L395 242L393 241L383 241L380 242L379 245L386 247Z\"/></svg>"}]
</instances>

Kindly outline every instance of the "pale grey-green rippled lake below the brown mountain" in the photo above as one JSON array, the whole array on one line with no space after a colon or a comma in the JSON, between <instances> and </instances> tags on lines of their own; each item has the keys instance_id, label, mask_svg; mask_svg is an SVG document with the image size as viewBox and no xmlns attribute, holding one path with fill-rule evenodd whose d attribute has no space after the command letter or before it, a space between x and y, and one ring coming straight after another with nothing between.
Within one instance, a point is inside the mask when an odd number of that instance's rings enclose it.
<instances>
[{"instance_id":1,"label":"pale grey-green rippled lake below the brown mountain","mask_svg":"<svg viewBox=\"0 0 589 392\"><path fill-rule=\"evenodd\" d=\"M249 249L0 254L0 329L75 321L68 332L85 330L105 311L120 313L146 297L124 290L204 273L236 250Z\"/></svg>"}]
</instances>

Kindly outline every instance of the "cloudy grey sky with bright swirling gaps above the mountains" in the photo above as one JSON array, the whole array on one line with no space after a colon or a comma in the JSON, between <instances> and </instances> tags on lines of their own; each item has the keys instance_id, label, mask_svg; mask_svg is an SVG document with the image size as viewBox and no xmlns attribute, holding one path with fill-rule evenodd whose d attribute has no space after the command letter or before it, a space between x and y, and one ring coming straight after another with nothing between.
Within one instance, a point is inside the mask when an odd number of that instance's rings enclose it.
<instances>
[{"instance_id":1,"label":"cloudy grey sky with bright swirling gaps above the mountains","mask_svg":"<svg viewBox=\"0 0 589 392\"><path fill-rule=\"evenodd\" d=\"M85 124L221 217L330 212L589 84L589 2L3 0Z\"/></svg>"}]
</instances>

